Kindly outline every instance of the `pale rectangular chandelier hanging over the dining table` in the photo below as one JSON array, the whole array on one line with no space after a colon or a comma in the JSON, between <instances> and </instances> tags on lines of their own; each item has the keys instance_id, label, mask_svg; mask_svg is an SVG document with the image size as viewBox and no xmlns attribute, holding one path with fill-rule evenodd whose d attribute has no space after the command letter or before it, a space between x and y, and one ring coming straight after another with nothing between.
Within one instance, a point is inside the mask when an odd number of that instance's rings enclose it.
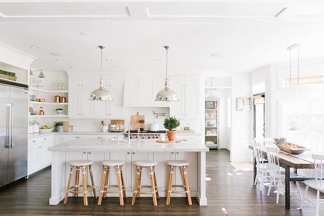
<instances>
[{"instance_id":1,"label":"pale rectangular chandelier hanging over the dining table","mask_svg":"<svg viewBox=\"0 0 324 216\"><path fill-rule=\"evenodd\" d=\"M310 86L299 86L299 46L301 44L294 44L293 46L287 48L290 51L290 86L282 89L277 89L276 97L280 102L297 102L305 101L309 99L310 96ZM292 85L292 60L291 60L291 50L298 48L298 60L297 60L297 85Z\"/></svg>"}]
</instances>

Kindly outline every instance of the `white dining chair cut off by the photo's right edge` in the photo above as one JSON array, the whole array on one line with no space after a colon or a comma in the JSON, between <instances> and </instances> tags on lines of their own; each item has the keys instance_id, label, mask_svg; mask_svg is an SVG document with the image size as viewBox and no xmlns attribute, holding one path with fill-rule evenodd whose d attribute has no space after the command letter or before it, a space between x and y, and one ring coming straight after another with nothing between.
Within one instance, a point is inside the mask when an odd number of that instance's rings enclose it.
<instances>
[{"instance_id":1,"label":"white dining chair cut off by the photo's right edge","mask_svg":"<svg viewBox=\"0 0 324 216\"><path fill-rule=\"evenodd\" d=\"M324 155L323 154L312 154L312 159L314 159L314 165L315 165L315 179L314 180L306 180L303 181L306 185L306 189L304 192L304 196L302 198L300 209L302 209L302 206L304 205L305 200L309 201L310 203L316 205L316 212L315 216L319 215L319 205L320 203L324 203L324 199L320 199L320 192L324 191ZM318 179L319 178L319 179ZM315 190L317 190L316 199L310 199L306 198L308 188L311 187ZM316 202L314 202L316 201Z\"/></svg>"}]
</instances>

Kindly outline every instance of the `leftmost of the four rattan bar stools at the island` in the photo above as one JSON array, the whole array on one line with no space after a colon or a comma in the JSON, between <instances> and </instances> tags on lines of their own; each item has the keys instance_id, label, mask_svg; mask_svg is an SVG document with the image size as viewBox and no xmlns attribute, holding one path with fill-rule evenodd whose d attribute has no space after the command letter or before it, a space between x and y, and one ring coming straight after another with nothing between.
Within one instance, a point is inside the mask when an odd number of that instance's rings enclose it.
<instances>
[{"instance_id":1,"label":"leftmost of the four rattan bar stools at the island","mask_svg":"<svg viewBox=\"0 0 324 216\"><path fill-rule=\"evenodd\" d=\"M88 196L87 192L93 191L93 195L95 199L97 198L96 195L96 190L94 186L94 181L93 181L93 176L92 176L92 169L91 169L92 161L89 160L77 160L77 161L71 161L70 162L70 175L69 175L69 181L66 189L66 194L65 194L65 199L64 199L64 204L66 204L67 198L69 193L74 193L74 196L77 197L78 193L83 193L83 204L85 206L88 205ZM75 185L70 187L71 184L71 179L72 179L72 174L73 174L73 168L76 168L76 179L75 179ZM91 183L92 185L87 185L86 183L86 169L89 168L89 173L90 173L90 178L91 178ZM80 170L82 174L82 185L79 185L79 180L80 180ZM79 191L79 187L82 187L83 190ZM74 191L71 191L71 189L74 188ZM87 188L90 188L87 190Z\"/></svg>"}]
</instances>

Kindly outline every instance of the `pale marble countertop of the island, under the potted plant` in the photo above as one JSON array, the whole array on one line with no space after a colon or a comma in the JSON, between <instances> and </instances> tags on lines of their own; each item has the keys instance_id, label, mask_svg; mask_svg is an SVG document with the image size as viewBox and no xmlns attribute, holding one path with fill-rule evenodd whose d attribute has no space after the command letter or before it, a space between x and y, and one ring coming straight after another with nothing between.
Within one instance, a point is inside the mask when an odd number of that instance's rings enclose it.
<instances>
[{"instance_id":1,"label":"pale marble countertop of the island, under the potted plant","mask_svg":"<svg viewBox=\"0 0 324 216\"><path fill-rule=\"evenodd\" d=\"M203 152L209 148L199 141L181 141L180 143L158 143L156 140L121 140L85 138L54 145L49 151L182 151Z\"/></svg>"}]
</instances>

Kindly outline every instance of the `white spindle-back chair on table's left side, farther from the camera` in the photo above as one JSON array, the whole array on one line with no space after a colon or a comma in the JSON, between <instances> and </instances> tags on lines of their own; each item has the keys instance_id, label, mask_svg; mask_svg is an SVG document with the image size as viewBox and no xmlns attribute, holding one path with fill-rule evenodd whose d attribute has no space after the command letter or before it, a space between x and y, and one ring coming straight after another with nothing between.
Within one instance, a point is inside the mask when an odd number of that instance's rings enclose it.
<instances>
[{"instance_id":1,"label":"white spindle-back chair on table's left side, farther from the camera","mask_svg":"<svg viewBox=\"0 0 324 216\"><path fill-rule=\"evenodd\" d=\"M270 166L262 154L262 151L261 151L262 144L252 142L252 146L253 146L253 154L254 154L255 161L256 161L255 167L257 168L257 174L255 176L254 185L257 184L259 172L262 171L261 182L260 182L260 191L261 191L262 185L264 184L264 182L271 181ZM265 162L267 162L267 163L265 163Z\"/></svg>"}]
</instances>

